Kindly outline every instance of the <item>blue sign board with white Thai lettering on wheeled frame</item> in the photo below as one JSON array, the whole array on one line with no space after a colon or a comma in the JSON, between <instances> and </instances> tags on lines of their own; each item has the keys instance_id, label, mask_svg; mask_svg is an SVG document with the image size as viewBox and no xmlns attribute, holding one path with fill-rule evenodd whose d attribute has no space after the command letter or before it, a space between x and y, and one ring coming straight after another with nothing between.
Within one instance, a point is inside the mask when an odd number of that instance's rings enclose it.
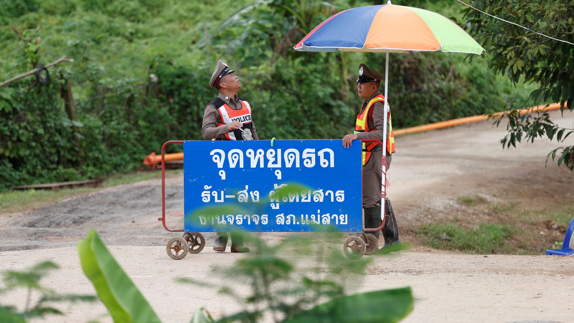
<instances>
[{"instance_id":1,"label":"blue sign board with white Thai lettering on wheeled frame","mask_svg":"<svg viewBox=\"0 0 574 323\"><path fill-rule=\"evenodd\" d=\"M184 230L362 230L361 144L184 141Z\"/></svg>"}]
</instances>

